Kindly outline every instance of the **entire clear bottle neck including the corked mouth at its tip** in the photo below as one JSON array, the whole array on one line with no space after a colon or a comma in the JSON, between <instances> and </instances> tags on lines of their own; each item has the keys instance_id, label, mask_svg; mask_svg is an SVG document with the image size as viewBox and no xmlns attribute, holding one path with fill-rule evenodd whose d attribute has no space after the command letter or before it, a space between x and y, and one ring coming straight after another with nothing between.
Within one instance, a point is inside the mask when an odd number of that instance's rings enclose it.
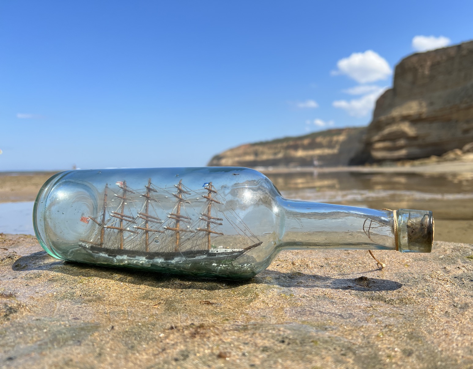
<instances>
[{"instance_id":1,"label":"entire clear bottle neck including the corked mouth at its tip","mask_svg":"<svg viewBox=\"0 0 473 369\"><path fill-rule=\"evenodd\" d=\"M283 249L397 250L429 253L431 211L375 210L280 198L285 217L277 247Z\"/></svg>"}]
</instances>

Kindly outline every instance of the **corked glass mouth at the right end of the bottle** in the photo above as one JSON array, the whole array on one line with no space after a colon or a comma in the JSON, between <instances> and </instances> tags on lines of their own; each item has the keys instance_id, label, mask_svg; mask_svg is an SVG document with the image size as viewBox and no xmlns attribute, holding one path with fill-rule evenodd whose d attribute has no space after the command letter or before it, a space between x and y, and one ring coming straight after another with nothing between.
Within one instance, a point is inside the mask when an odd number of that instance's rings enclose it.
<instances>
[{"instance_id":1,"label":"corked glass mouth at the right end of the bottle","mask_svg":"<svg viewBox=\"0 0 473 369\"><path fill-rule=\"evenodd\" d=\"M399 209L397 211L398 249L401 252L429 253L434 241L432 211Z\"/></svg>"}]
</instances>

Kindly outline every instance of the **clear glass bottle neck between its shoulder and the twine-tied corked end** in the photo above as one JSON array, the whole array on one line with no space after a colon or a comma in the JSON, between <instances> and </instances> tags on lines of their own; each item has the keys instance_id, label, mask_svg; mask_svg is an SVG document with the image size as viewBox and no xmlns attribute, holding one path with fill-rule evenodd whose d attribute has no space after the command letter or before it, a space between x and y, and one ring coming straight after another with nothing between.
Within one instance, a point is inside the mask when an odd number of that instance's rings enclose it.
<instances>
[{"instance_id":1,"label":"clear glass bottle neck between its shoulder and the twine-tied corked end","mask_svg":"<svg viewBox=\"0 0 473 369\"><path fill-rule=\"evenodd\" d=\"M398 249L393 211L286 199L280 204L280 249Z\"/></svg>"}]
</instances>

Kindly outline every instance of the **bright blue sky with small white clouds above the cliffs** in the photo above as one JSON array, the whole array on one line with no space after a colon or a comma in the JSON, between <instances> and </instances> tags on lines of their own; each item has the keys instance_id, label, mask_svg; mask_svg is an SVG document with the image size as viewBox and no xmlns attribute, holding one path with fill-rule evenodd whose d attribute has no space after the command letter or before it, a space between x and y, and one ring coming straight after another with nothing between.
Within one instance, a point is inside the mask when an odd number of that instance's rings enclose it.
<instances>
[{"instance_id":1,"label":"bright blue sky with small white clouds above the cliffs","mask_svg":"<svg viewBox=\"0 0 473 369\"><path fill-rule=\"evenodd\" d=\"M472 39L471 14L469 1L1 1L0 171L203 166L366 125L395 64Z\"/></svg>"}]
</instances>

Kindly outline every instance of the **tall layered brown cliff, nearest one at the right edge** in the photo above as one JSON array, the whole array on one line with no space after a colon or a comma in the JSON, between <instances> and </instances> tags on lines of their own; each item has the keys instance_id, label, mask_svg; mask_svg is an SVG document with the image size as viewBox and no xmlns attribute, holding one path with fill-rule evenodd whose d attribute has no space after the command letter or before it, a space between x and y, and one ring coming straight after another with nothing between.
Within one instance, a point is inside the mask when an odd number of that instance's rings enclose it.
<instances>
[{"instance_id":1,"label":"tall layered brown cliff, nearest one at the right edge","mask_svg":"<svg viewBox=\"0 0 473 369\"><path fill-rule=\"evenodd\" d=\"M416 53L379 97L365 146L350 164L417 159L473 141L473 41Z\"/></svg>"}]
</instances>

